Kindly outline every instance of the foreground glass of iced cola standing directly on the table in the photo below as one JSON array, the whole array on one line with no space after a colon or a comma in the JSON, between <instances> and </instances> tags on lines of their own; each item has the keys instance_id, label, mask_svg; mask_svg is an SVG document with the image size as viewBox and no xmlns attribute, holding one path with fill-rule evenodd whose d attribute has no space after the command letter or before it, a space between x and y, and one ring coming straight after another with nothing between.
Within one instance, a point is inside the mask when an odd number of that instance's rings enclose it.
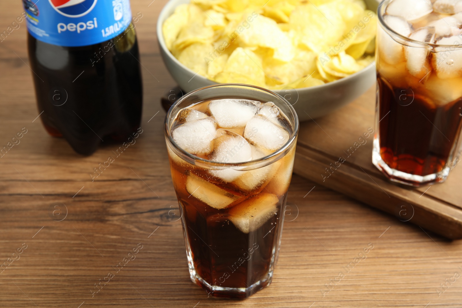
<instances>
[{"instance_id":1,"label":"foreground glass of iced cola standing directly on the table","mask_svg":"<svg viewBox=\"0 0 462 308\"><path fill-rule=\"evenodd\" d=\"M167 149L190 276L209 296L244 298L271 283L298 122L255 96L188 97L167 115Z\"/></svg>"}]
</instances>

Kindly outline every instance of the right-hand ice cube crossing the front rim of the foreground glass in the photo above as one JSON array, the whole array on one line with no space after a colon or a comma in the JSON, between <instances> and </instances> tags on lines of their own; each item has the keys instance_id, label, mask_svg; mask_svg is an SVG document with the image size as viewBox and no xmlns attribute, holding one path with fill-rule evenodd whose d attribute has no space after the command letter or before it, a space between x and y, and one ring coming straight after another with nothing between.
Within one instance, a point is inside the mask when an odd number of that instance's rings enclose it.
<instances>
[{"instance_id":1,"label":"right-hand ice cube crossing the front rim of the foreground glass","mask_svg":"<svg viewBox=\"0 0 462 308\"><path fill-rule=\"evenodd\" d=\"M271 152L263 152L260 149L256 148L254 145L251 145L252 149L252 160L259 159L261 157L265 157ZM244 171L243 175L239 176L234 184L242 189L245 192L249 192L259 187L263 187L265 183L271 180L276 171L280 166L280 160L253 170Z\"/></svg>"}]
</instances>

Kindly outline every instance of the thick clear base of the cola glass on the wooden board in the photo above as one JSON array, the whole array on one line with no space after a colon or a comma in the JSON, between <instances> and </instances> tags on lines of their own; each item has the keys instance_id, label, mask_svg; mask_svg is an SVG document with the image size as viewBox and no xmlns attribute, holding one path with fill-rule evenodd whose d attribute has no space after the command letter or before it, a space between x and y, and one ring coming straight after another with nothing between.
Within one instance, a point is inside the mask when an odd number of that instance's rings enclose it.
<instances>
[{"instance_id":1,"label":"thick clear base of the cola glass on the wooden board","mask_svg":"<svg viewBox=\"0 0 462 308\"><path fill-rule=\"evenodd\" d=\"M380 155L380 144L377 138L374 139L374 147L372 150L372 163L382 171L382 173L393 182L413 186L421 187L425 185L432 185L435 183L442 183L446 181L450 168L445 167L438 173L433 173L431 175L413 175L410 173L402 172L396 169L390 168L385 161L383 161L382 156Z\"/></svg>"}]
</instances>

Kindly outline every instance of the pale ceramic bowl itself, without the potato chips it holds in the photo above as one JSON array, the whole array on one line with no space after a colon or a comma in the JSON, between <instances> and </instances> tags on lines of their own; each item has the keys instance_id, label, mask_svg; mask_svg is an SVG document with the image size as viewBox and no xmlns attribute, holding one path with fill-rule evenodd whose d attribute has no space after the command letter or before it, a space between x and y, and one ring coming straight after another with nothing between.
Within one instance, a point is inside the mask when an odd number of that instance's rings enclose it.
<instances>
[{"instance_id":1,"label":"pale ceramic bowl itself, without the potato chips it holds","mask_svg":"<svg viewBox=\"0 0 462 308\"><path fill-rule=\"evenodd\" d=\"M190 92L207 85L214 85L216 82L201 75L195 76L195 72L180 63L165 46L162 25L165 19L173 14L176 6L183 3L190 3L190 0L170 0L164 6L157 21L157 39L162 59L168 71L182 90ZM377 0L365 0L365 3L370 10L377 12ZM351 76L324 85L300 89L286 88L274 92L285 97L292 104L300 121L307 121L327 115L350 103L367 91L375 82L376 68L375 64L371 64Z\"/></svg>"}]
</instances>

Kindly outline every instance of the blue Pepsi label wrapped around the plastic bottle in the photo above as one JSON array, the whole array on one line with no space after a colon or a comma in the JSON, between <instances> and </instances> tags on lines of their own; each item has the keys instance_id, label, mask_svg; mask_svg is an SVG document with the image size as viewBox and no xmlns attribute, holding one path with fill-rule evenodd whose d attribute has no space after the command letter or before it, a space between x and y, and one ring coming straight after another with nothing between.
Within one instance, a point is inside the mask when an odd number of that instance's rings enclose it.
<instances>
[{"instance_id":1,"label":"blue Pepsi label wrapped around the plastic bottle","mask_svg":"<svg viewBox=\"0 0 462 308\"><path fill-rule=\"evenodd\" d=\"M108 41L132 19L129 0L23 0L23 5L30 35L59 46Z\"/></svg>"}]
</instances>

